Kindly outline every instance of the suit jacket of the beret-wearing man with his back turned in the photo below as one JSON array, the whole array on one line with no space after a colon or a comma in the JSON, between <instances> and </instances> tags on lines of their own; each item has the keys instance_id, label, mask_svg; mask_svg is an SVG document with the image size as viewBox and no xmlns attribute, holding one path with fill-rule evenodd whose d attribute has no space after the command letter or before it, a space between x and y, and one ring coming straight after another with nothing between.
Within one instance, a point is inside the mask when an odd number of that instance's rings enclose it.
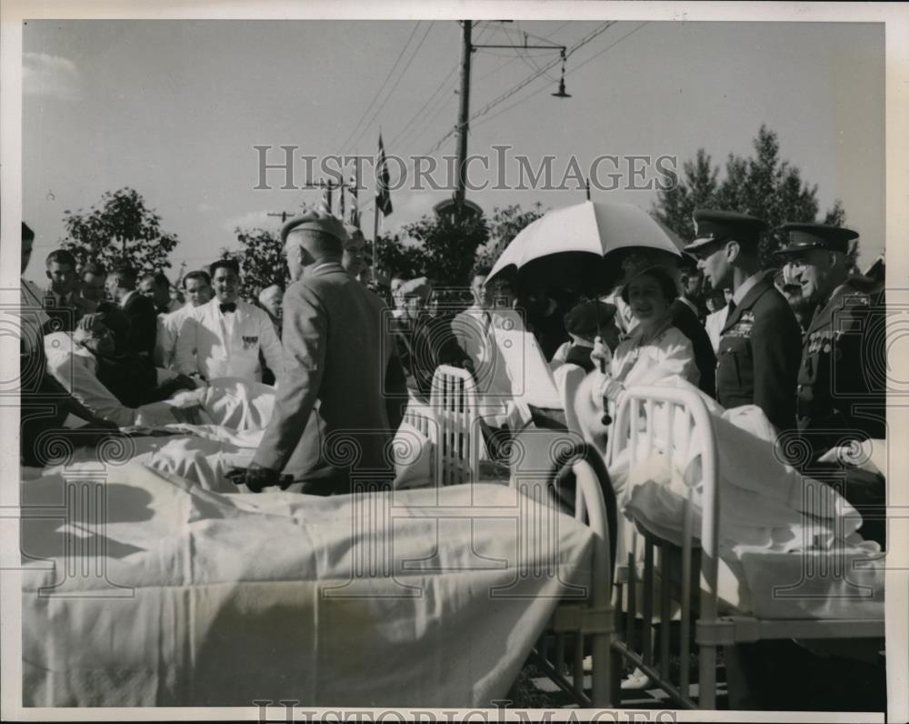
<instances>
[{"instance_id":1,"label":"suit jacket of the beret-wearing man with his back turned","mask_svg":"<svg viewBox=\"0 0 909 724\"><path fill-rule=\"evenodd\" d=\"M389 318L382 300L334 262L307 268L288 287L285 374L255 464L326 485L391 479L401 416L389 420L389 407L400 412L406 387ZM316 402L317 425L310 421Z\"/></svg>"}]
</instances>

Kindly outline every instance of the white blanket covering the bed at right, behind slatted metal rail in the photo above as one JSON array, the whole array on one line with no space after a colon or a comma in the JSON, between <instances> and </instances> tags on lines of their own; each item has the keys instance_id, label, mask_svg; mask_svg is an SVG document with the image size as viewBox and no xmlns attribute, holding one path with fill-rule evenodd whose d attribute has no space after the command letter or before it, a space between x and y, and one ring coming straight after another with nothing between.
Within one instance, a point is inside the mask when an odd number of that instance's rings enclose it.
<instances>
[{"instance_id":1,"label":"white blanket covering the bed at right, behind slatted metal rail","mask_svg":"<svg viewBox=\"0 0 909 724\"><path fill-rule=\"evenodd\" d=\"M882 618L884 556L855 532L862 523L858 512L833 488L781 460L774 428L760 408L724 410L704 399L719 457L724 602L761 618ZM654 444L640 446L634 461L627 448L612 461L618 502L628 518L680 545L691 488L694 531L701 530L704 437L689 432L691 444L676 443L670 459L664 441L670 426L675 441L685 439L683 418L669 420L656 406L650 419L639 422L654 426Z\"/></svg>"}]
</instances>

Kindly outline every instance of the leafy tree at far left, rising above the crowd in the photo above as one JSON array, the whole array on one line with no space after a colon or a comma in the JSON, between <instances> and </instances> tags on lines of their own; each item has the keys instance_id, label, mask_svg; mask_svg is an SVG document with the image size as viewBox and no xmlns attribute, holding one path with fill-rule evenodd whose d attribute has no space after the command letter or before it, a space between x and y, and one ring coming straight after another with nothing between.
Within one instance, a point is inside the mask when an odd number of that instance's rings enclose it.
<instances>
[{"instance_id":1,"label":"leafy tree at far left, rising above the crowd","mask_svg":"<svg viewBox=\"0 0 909 724\"><path fill-rule=\"evenodd\" d=\"M92 206L87 213L67 209L63 223L61 246L81 264L91 261L110 268L125 263L140 274L169 268L168 256L179 242L175 234L161 230L161 216L132 188L105 192L100 207Z\"/></svg>"}]
</instances>

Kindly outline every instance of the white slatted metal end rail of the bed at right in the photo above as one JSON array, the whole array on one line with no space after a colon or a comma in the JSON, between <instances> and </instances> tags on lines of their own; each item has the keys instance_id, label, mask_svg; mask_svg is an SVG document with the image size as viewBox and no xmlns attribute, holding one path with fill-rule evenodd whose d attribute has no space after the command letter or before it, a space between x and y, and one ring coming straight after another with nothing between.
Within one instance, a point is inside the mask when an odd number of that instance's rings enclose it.
<instances>
[{"instance_id":1,"label":"white slatted metal end rail of the bed at right","mask_svg":"<svg viewBox=\"0 0 909 724\"><path fill-rule=\"evenodd\" d=\"M667 465L673 465L679 456L689 460L694 453L701 456L701 501L702 527L694 530L694 485L688 488L684 500L683 546L681 548L681 575L673 580L670 571L677 568L670 564L678 548L637 529L628 551L627 563L616 570L616 598L626 598L625 615L622 606L616 607L616 628L618 635L613 642L614 651L620 655L613 659L613 666L621 664L621 658L629 659L654 679L670 696L686 707L714 709L716 704L716 659L717 643L709 639L709 629L714 626L718 614L717 578L718 558L718 457L715 446L714 428L704 400L692 389L673 387L633 387L625 391L614 417L610 432L607 459L610 464L625 453L629 468L654 453L667 456ZM643 547L644 576L642 584L643 610L641 637L634 630L638 616L638 549ZM657 562L655 554L659 553ZM662 569L659 585L659 620L663 627L660 637L659 664L654 661L654 571ZM692 586L700 581L700 607L698 610L697 632L704 632L704 641L698 650L699 694L697 702L689 695L691 684L691 623L693 619ZM678 588L681 593L675 593ZM670 635L668 622L673 618L673 599L680 605L680 637L678 655L680 671L678 680L670 677ZM638 645L639 644L639 645ZM618 676L614 672L613 679Z\"/></svg>"}]
</instances>

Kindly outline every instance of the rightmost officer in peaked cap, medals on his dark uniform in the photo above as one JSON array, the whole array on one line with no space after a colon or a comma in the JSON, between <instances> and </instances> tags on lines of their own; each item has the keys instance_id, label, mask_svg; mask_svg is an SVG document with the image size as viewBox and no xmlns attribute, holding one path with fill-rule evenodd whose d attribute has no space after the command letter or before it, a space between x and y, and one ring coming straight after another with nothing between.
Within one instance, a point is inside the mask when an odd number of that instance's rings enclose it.
<instances>
[{"instance_id":1,"label":"rightmost officer in peaked cap, medals on his dark uniform","mask_svg":"<svg viewBox=\"0 0 909 724\"><path fill-rule=\"evenodd\" d=\"M796 389L799 433L811 445L804 472L822 477L832 447L886 437L886 307L865 291L863 280L849 276L847 253L856 232L823 224L786 224L781 231L789 243L780 254L791 278L817 306ZM884 505L882 475L837 469L844 474L844 497L860 512ZM866 517L860 532L884 544L883 520Z\"/></svg>"}]
</instances>

